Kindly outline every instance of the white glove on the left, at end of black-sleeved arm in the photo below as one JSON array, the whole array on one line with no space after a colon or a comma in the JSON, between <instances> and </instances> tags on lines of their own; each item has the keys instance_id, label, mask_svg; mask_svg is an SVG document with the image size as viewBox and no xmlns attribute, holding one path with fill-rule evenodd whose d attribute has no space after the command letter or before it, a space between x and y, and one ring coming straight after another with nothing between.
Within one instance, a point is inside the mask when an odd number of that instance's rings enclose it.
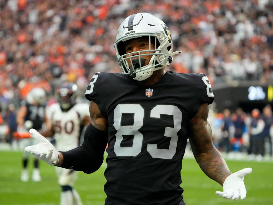
<instances>
[{"instance_id":1,"label":"white glove on the left, at end of black-sleeved arm","mask_svg":"<svg viewBox=\"0 0 273 205\"><path fill-rule=\"evenodd\" d=\"M29 130L32 137L39 141L38 144L25 147L26 152L31 152L34 156L45 161L49 165L56 165L60 160L60 154L55 147L37 130Z\"/></svg>"}]
</instances>

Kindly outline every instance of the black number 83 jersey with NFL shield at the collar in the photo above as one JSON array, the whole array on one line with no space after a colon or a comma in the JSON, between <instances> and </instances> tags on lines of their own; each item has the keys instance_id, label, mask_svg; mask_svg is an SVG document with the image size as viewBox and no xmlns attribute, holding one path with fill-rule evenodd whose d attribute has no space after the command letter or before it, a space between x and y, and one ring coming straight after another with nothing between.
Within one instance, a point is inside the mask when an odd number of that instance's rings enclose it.
<instances>
[{"instance_id":1,"label":"black number 83 jersey with NFL shield at the collar","mask_svg":"<svg viewBox=\"0 0 273 205\"><path fill-rule=\"evenodd\" d=\"M166 72L147 87L129 75L100 72L85 96L98 104L109 125L105 204L179 202L187 122L214 99L208 78Z\"/></svg>"}]
</instances>

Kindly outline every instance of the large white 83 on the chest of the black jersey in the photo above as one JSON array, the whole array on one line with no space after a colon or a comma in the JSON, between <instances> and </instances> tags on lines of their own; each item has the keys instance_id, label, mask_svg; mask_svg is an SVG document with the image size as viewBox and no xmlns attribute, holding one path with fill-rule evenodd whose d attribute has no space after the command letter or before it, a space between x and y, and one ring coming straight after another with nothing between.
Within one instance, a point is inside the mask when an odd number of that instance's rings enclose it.
<instances>
[{"instance_id":1,"label":"large white 83 on the chest of the black jersey","mask_svg":"<svg viewBox=\"0 0 273 205\"><path fill-rule=\"evenodd\" d=\"M133 125L121 126L123 113L134 114ZM151 118L160 118L160 115L172 115L174 127L165 127L164 136L170 137L169 149L158 149L157 144L148 144L147 151L153 158L172 159L177 147L177 132L181 129L182 112L174 105L156 105L152 110ZM144 108L140 104L118 104L114 110L114 127L117 130L114 151L117 156L137 156L142 150L143 135L138 131L143 126ZM123 135L133 135L133 145L121 147Z\"/></svg>"}]
</instances>

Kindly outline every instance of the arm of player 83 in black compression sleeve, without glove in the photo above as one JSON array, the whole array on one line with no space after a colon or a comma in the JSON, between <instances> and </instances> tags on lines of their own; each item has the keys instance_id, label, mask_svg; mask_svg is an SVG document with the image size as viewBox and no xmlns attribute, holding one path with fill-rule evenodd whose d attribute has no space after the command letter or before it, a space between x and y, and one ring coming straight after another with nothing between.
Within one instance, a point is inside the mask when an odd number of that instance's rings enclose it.
<instances>
[{"instance_id":1,"label":"arm of player 83 in black compression sleeve, without glove","mask_svg":"<svg viewBox=\"0 0 273 205\"><path fill-rule=\"evenodd\" d=\"M91 123L84 133L82 146L66 152L59 151L60 160L56 166L92 173L102 164L107 145L108 123L102 116L98 105L93 101L90 102L89 112ZM86 161L91 163L86 163Z\"/></svg>"}]
</instances>

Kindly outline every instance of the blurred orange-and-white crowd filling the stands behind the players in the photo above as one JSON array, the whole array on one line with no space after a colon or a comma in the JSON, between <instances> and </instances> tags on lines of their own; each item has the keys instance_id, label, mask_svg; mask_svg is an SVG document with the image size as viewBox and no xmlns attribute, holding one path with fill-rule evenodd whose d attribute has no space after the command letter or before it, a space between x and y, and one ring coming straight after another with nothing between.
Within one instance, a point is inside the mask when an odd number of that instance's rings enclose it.
<instances>
[{"instance_id":1,"label":"blurred orange-and-white crowd filling the stands behind the players","mask_svg":"<svg viewBox=\"0 0 273 205\"><path fill-rule=\"evenodd\" d=\"M173 50L182 51L167 69L205 73L212 85L226 76L268 83L272 9L271 0L0 0L0 108L13 121L9 113L32 88L45 89L51 102L63 81L76 83L84 101L94 73L119 72L117 29L138 12L162 19Z\"/></svg>"}]
</instances>

